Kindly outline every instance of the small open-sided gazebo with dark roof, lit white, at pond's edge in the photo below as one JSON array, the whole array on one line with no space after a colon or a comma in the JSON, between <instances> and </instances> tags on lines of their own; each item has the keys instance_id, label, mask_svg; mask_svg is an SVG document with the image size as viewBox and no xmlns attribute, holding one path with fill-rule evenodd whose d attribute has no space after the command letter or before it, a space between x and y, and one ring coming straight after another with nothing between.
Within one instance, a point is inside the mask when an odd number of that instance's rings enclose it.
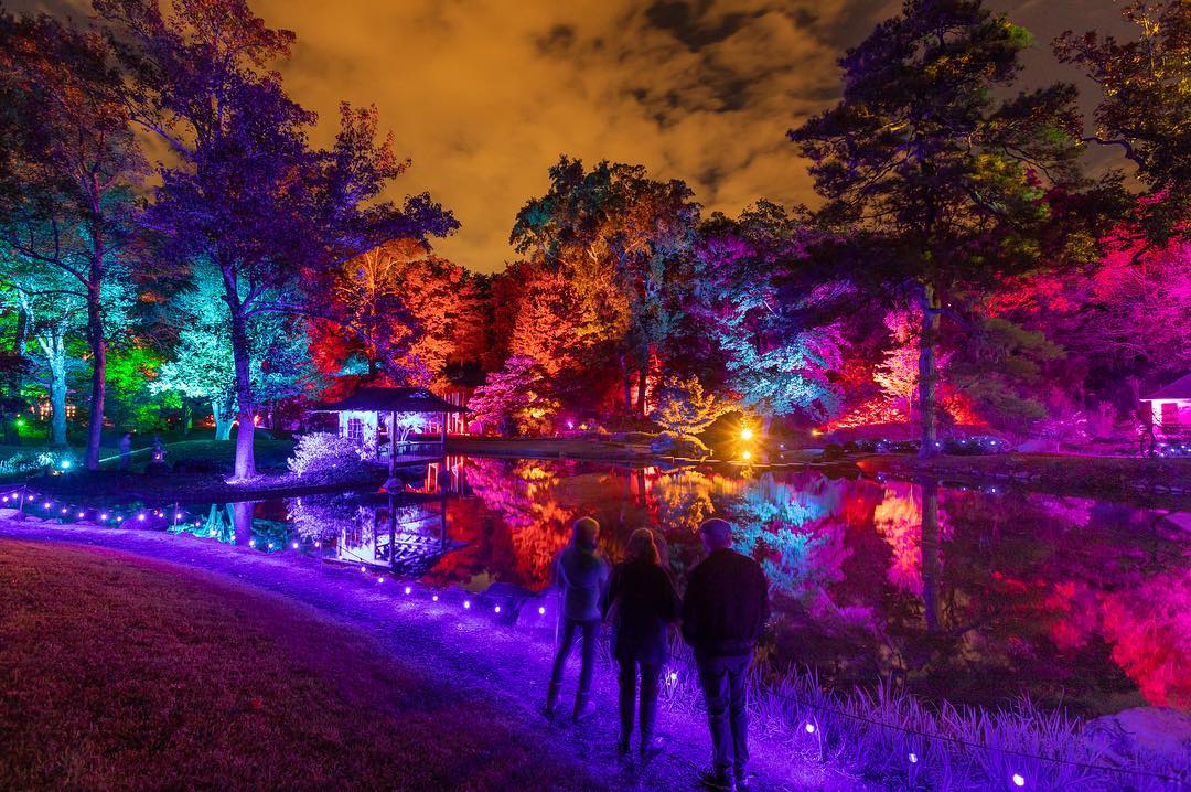
<instances>
[{"instance_id":1,"label":"small open-sided gazebo with dark roof, lit white, at pond's edge","mask_svg":"<svg viewBox=\"0 0 1191 792\"><path fill-rule=\"evenodd\" d=\"M338 434L374 448L376 459L388 447L389 474L399 464L445 456L447 416L467 412L426 388L360 388L347 399L322 404L312 412L335 413ZM437 434L437 442L410 442L414 434ZM387 441L387 442L386 442Z\"/></svg>"}]
</instances>

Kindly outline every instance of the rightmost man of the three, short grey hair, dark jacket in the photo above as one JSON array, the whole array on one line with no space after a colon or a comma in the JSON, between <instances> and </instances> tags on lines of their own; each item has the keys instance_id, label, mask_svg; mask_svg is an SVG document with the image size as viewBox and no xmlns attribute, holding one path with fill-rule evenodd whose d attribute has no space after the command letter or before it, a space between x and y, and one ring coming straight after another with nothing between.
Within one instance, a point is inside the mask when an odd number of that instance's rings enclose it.
<instances>
[{"instance_id":1,"label":"rightmost man of the three, short grey hair, dark jacket","mask_svg":"<svg viewBox=\"0 0 1191 792\"><path fill-rule=\"evenodd\" d=\"M748 765L747 675L769 618L769 585L756 561L731 549L729 523L709 519L699 535L707 557L691 572L682 599L682 637L694 649L711 726L712 766L699 779L736 790Z\"/></svg>"}]
</instances>

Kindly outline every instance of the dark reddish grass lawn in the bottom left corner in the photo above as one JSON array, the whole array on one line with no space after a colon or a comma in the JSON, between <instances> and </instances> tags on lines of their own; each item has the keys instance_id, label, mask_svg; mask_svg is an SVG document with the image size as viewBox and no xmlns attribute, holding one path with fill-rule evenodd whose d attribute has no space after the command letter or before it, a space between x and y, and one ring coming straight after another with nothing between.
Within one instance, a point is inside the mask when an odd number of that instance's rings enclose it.
<instances>
[{"instance_id":1,"label":"dark reddish grass lawn in the bottom left corner","mask_svg":"<svg viewBox=\"0 0 1191 792\"><path fill-rule=\"evenodd\" d=\"M585 790L360 634L197 570L0 541L0 788Z\"/></svg>"}]
</instances>

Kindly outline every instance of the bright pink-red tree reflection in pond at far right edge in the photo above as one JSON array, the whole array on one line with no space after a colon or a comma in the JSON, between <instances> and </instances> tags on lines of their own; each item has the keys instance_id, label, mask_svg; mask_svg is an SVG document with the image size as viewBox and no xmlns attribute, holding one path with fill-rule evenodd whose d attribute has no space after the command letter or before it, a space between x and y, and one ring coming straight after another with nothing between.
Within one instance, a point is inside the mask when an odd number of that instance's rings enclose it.
<instances>
[{"instance_id":1,"label":"bright pink-red tree reflection in pond at far right edge","mask_svg":"<svg viewBox=\"0 0 1191 792\"><path fill-rule=\"evenodd\" d=\"M1104 594L1115 660L1158 706L1191 707L1191 568Z\"/></svg>"}]
</instances>

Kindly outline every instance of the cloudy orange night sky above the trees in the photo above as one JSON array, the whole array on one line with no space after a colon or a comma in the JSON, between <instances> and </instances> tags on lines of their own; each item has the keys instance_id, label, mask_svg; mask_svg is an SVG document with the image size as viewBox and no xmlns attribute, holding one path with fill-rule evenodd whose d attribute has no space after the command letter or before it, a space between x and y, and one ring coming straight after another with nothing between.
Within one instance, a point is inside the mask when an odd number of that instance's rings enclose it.
<instances>
[{"instance_id":1,"label":"cloudy orange night sky above the trees","mask_svg":"<svg viewBox=\"0 0 1191 792\"><path fill-rule=\"evenodd\" d=\"M250 0L252 1L252 0ZM14 11L77 0L11 2ZM82 5L82 4L79 4ZM1120 30L1110 0L990 0L1040 42L1028 80L1073 79L1045 46L1073 27ZM480 272L512 257L509 230L560 154L640 162L684 179L707 211L756 198L812 202L785 132L835 100L835 60L886 0L255 0L298 33L282 67L333 133L337 105L376 104L462 229L438 251Z\"/></svg>"}]
</instances>

